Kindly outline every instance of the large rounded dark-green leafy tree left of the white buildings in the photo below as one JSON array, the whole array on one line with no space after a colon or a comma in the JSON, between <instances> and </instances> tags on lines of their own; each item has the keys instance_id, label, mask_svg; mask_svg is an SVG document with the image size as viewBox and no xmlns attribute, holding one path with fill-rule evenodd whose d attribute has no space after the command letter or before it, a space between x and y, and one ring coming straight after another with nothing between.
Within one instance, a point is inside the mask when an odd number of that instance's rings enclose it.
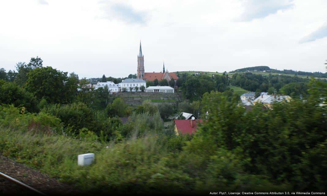
<instances>
[{"instance_id":1,"label":"large rounded dark-green leafy tree left of the white buildings","mask_svg":"<svg viewBox=\"0 0 327 196\"><path fill-rule=\"evenodd\" d=\"M41 67L27 74L26 90L48 103L68 103L77 91L76 79L68 80L67 72L52 67Z\"/></svg>"}]
</instances>

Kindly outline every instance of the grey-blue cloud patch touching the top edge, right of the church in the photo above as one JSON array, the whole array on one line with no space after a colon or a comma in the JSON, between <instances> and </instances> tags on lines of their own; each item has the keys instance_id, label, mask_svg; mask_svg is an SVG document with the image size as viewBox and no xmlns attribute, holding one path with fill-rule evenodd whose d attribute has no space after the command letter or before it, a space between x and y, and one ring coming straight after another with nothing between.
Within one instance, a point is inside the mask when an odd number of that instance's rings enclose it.
<instances>
[{"instance_id":1,"label":"grey-blue cloud patch touching the top edge, right of the church","mask_svg":"<svg viewBox=\"0 0 327 196\"><path fill-rule=\"evenodd\" d=\"M247 0L243 2L244 12L237 21L251 21L256 18L264 18L278 10L290 9L294 3L290 0Z\"/></svg>"}]
</instances>

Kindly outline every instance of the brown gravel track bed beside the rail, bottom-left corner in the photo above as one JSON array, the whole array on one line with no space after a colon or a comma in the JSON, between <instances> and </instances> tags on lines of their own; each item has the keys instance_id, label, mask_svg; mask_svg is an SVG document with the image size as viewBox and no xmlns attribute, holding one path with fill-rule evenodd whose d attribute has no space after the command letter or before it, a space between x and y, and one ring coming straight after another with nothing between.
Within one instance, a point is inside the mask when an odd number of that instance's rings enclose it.
<instances>
[{"instance_id":1,"label":"brown gravel track bed beside the rail, bottom-left corner","mask_svg":"<svg viewBox=\"0 0 327 196\"><path fill-rule=\"evenodd\" d=\"M16 163L2 155L0 155L0 172L21 181L46 195L79 195L80 193L75 187L63 184L36 169ZM26 195L25 192L28 192L25 191L24 188L20 188L4 178L0 179L0 195L2 195L2 193L12 195L17 193L17 191L22 193L19 195Z\"/></svg>"}]
</instances>

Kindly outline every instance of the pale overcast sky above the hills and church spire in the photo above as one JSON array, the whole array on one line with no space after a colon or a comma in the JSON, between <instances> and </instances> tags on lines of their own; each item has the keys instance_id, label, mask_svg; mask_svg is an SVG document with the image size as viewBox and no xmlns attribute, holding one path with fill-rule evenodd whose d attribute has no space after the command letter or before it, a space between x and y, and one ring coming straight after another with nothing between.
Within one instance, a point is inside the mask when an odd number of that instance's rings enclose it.
<instances>
[{"instance_id":1,"label":"pale overcast sky above the hills and church spire","mask_svg":"<svg viewBox=\"0 0 327 196\"><path fill-rule=\"evenodd\" d=\"M326 0L0 0L0 68L39 56L79 78L224 72L250 66L326 72Z\"/></svg>"}]
</instances>

